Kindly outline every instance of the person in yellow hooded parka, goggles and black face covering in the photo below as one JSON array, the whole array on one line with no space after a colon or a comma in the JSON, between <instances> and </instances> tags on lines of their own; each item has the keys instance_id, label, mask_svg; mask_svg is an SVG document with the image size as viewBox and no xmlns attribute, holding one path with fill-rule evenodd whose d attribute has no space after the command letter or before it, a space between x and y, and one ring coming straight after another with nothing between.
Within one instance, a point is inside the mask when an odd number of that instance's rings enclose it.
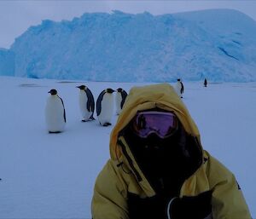
<instances>
[{"instance_id":1,"label":"person in yellow hooded parka, goggles and black face covering","mask_svg":"<svg viewBox=\"0 0 256 219\"><path fill-rule=\"evenodd\" d=\"M134 87L96 178L93 219L250 219L235 176L201 146L170 84Z\"/></svg>"}]
</instances>

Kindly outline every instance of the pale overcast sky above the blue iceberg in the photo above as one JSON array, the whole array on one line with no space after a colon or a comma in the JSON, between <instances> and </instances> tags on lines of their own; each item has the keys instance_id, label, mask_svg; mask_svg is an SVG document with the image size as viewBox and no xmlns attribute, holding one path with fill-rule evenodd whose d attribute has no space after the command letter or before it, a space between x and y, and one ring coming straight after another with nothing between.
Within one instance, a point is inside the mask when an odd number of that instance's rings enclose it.
<instances>
[{"instance_id":1,"label":"pale overcast sky above the blue iceberg","mask_svg":"<svg viewBox=\"0 0 256 219\"><path fill-rule=\"evenodd\" d=\"M256 0L230 1L97 1L97 0L0 0L0 48L9 49L15 37L29 26L39 25L42 20L72 20L85 12L111 12L118 9L127 13L172 14L199 9L237 9L256 20Z\"/></svg>"}]
</instances>

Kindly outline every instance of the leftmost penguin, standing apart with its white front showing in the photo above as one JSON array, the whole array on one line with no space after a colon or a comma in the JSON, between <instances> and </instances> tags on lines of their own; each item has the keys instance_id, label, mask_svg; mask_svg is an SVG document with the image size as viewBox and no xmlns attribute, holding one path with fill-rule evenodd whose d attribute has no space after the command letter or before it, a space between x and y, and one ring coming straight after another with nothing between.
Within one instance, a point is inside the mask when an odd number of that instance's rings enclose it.
<instances>
[{"instance_id":1,"label":"leftmost penguin, standing apart with its white front showing","mask_svg":"<svg viewBox=\"0 0 256 219\"><path fill-rule=\"evenodd\" d=\"M45 107L45 122L49 133L60 133L64 130L66 124L66 111L64 103L57 90L51 89L48 92L50 96L47 99Z\"/></svg>"}]
</instances>

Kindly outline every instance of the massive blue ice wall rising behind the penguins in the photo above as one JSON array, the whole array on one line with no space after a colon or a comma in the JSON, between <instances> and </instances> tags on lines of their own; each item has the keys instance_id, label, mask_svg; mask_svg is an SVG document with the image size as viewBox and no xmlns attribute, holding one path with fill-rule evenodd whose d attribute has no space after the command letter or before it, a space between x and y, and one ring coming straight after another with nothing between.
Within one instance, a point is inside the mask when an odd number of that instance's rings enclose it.
<instances>
[{"instance_id":1,"label":"massive blue ice wall rising behind the penguins","mask_svg":"<svg viewBox=\"0 0 256 219\"><path fill-rule=\"evenodd\" d=\"M155 16L113 11L43 20L9 50L15 54L17 77L256 81L256 21L231 9ZM10 74L0 68L0 75Z\"/></svg>"}]
</instances>

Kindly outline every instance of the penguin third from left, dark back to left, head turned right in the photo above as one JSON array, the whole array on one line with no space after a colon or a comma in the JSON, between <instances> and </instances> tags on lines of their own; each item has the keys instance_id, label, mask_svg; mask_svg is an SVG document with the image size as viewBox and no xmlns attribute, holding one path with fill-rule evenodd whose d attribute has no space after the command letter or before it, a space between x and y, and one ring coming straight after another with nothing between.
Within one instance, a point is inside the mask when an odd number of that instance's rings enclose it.
<instances>
[{"instance_id":1,"label":"penguin third from left, dark back to left, head turned right","mask_svg":"<svg viewBox=\"0 0 256 219\"><path fill-rule=\"evenodd\" d=\"M111 125L113 117L113 89L104 89L96 101L96 113L102 126Z\"/></svg>"}]
</instances>

